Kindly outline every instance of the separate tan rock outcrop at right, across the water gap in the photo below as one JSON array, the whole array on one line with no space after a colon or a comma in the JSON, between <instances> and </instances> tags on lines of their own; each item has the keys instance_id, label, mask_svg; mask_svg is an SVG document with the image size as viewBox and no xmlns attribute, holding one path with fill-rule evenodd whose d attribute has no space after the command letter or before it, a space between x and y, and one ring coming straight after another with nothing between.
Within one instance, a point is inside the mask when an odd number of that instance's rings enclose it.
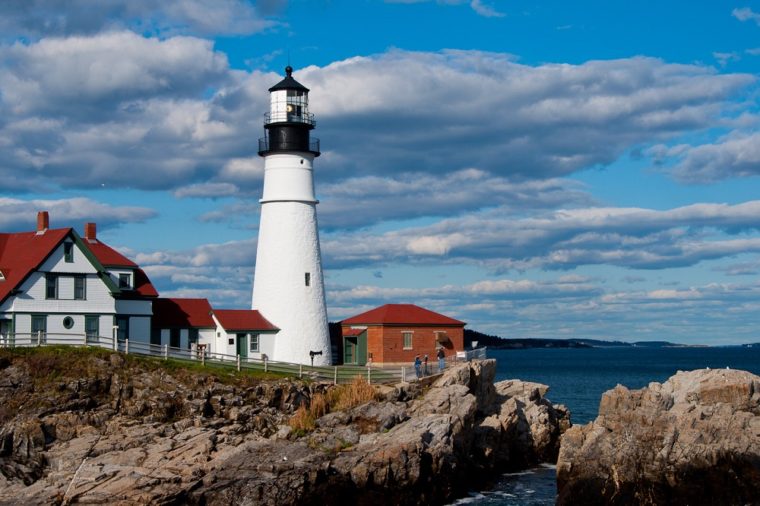
<instances>
[{"instance_id":1,"label":"separate tan rock outcrop at right, across the water gap","mask_svg":"<svg viewBox=\"0 0 760 506\"><path fill-rule=\"evenodd\" d=\"M679 372L606 392L562 437L558 504L760 504L760 377Z\"/></svg>"}]
</instances>

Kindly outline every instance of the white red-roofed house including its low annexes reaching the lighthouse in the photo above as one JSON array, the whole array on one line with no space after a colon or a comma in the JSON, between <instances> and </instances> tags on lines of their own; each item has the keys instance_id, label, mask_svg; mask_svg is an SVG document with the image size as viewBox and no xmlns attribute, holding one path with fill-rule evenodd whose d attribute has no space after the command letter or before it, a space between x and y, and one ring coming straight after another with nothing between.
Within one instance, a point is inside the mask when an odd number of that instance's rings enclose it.
<instances>
[{"instance_id":1,"label":"white red-roofed house including its low annexes reaching the lighthouse","mask_svg":"<svg viewBox=\"0 0 760 506\"><path fill-rule=\"evenodd\" d=\"M209 355L271 358L278 329L256 310L213 309L207 299L159 298L145 272L97 237L50 228L0 233L0 345L129 339Z\"/></svg>"}]
</instances>

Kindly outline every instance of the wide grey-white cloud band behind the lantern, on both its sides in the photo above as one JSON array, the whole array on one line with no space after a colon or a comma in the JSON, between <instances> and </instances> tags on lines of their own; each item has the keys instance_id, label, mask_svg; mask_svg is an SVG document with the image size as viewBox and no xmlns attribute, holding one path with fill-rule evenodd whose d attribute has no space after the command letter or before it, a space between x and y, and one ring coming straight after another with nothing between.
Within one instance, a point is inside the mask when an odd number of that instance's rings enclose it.
<instances>
[{"instance_id":1,"label":"wide grey-white cloud band behind the lantern, on both its sides","mask_svg":"<svg viewBox=\"0 0 760 506\"><path fill-rule=\"evenodd\" d=\"M280 77L233 71L208 41L43 39L0 48L0 66L9 189L210 182L260 191L251 132ZM648 58L527 66L476 51L390 51L297 77L312 89L325 149L318 191L377 174L569 174L713 124L754 80Z\"/></svg>"}]
</instances>

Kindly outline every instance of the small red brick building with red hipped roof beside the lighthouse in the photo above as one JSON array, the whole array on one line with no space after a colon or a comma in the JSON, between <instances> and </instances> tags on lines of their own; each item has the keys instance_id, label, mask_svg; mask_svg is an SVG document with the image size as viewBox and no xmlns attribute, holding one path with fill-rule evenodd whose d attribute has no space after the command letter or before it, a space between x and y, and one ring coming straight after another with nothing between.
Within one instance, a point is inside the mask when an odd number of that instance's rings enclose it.
<instances>
[{"instance_id":1,"label":"small red brick building with red hipped roof beside the lighthouse","mask_svg":"<svg viewBox=\"0 0 760 506\"><path fill-rule=\"evenodd\" d=\"M436 360L464 350L465 322L414 304L386 304L341 322L343 363L409 363L415 355Z\"/></svg>"}]
</instances>

